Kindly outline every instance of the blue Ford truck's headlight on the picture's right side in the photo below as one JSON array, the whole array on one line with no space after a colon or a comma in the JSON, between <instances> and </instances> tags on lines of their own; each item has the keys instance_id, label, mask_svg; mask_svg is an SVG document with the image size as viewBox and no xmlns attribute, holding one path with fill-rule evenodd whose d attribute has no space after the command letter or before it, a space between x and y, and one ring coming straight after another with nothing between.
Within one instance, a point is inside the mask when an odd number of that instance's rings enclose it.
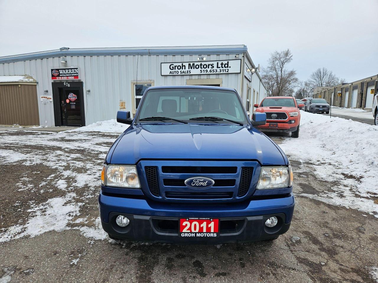
<instances>
[{"instance_id":1,"label":"blue Ford truck's headlight on the picture's right side","mask_svg":"<svg viewBox=\"0 0 378 283\"><path fill-rule=\"evenodd\" d=\"M285 188L290 186L291 167L262 167L257 189Z\"/></svg>"}]
</instances>

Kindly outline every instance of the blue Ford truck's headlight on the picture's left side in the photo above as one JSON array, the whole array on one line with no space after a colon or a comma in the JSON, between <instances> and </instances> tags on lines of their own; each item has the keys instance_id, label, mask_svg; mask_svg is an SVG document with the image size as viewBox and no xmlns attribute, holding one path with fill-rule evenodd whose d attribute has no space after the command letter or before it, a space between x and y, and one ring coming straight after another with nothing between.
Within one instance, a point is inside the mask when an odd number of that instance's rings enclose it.
<instances>
[{"instance_id":1,"label":"blue Ford truck's headlight on the picture's left side","mask_svg":"<svg viewBox=\"0 0 378 283\"><path fill-rule=\"evenodd\" d=\"M104 185L123 188L140 188L138 173L134 165L108 165L106 166L105 172Z\"/></svg>"}]
</instances>

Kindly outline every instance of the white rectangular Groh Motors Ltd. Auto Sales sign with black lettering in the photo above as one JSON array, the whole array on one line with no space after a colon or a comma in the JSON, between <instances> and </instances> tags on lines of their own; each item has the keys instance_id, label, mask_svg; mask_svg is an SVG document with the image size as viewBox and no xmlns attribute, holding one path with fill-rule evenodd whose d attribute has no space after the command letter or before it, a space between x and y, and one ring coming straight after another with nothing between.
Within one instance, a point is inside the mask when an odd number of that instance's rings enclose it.
<instances>
[{"instance_id":1,"label":"white rectangular Groh Motors Ltd. Auto Sales sign with black lettering","mask_svg":"<svg viewBox=\"0 0 378 283\"><path fill-rule=\"evenodd\" d=\"M161 75L203 75L240 73L241 59L161 63Z\"/></svg>"}]
</instances>

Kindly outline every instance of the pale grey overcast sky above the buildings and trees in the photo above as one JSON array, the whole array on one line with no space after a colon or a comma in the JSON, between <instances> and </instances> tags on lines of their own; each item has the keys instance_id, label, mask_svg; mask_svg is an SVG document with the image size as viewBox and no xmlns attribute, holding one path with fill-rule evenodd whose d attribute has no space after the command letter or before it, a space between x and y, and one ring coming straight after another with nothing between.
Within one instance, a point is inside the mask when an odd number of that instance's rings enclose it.
<instances>
[{"instance_id":1,"label":"pale grey overcast sky above the buildings and trees","mask_svg":"<svg viewBox=\"0 0 378 283\"><path fill-rule=\"evenodd\" d=\"M378 73L378 0L0 0L0 56L69 48L245 44L255 65L290 48L300 80Z\"/></svg>"}]
</instances>

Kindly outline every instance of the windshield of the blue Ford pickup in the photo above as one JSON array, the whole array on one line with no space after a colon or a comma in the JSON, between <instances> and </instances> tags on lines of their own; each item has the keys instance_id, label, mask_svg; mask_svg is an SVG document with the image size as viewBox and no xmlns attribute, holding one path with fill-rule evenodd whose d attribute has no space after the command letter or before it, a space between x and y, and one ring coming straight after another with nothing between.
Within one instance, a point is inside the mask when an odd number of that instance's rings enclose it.
<instances>
[{"instance_id":1,"label":"windshield of the blue Ford pickup","mask_svg":"<svg viewBox=\"0 0 378 283\"><path fill-rule=\"evenodd\" d=\"M151 89L145 94L138 122L145 118L167 117L190 123L230 123L226 120L189 120L199 117L219 117L248 123L237 94L215 89ZM144 119L144 120L143 120ZM142 120L142 121L141 121ZM169 120L167 120L169 121ZM169 121L170 122L170 121ZM149 121L150 123L150 121Z\"/></svg>"}]
</instances>

